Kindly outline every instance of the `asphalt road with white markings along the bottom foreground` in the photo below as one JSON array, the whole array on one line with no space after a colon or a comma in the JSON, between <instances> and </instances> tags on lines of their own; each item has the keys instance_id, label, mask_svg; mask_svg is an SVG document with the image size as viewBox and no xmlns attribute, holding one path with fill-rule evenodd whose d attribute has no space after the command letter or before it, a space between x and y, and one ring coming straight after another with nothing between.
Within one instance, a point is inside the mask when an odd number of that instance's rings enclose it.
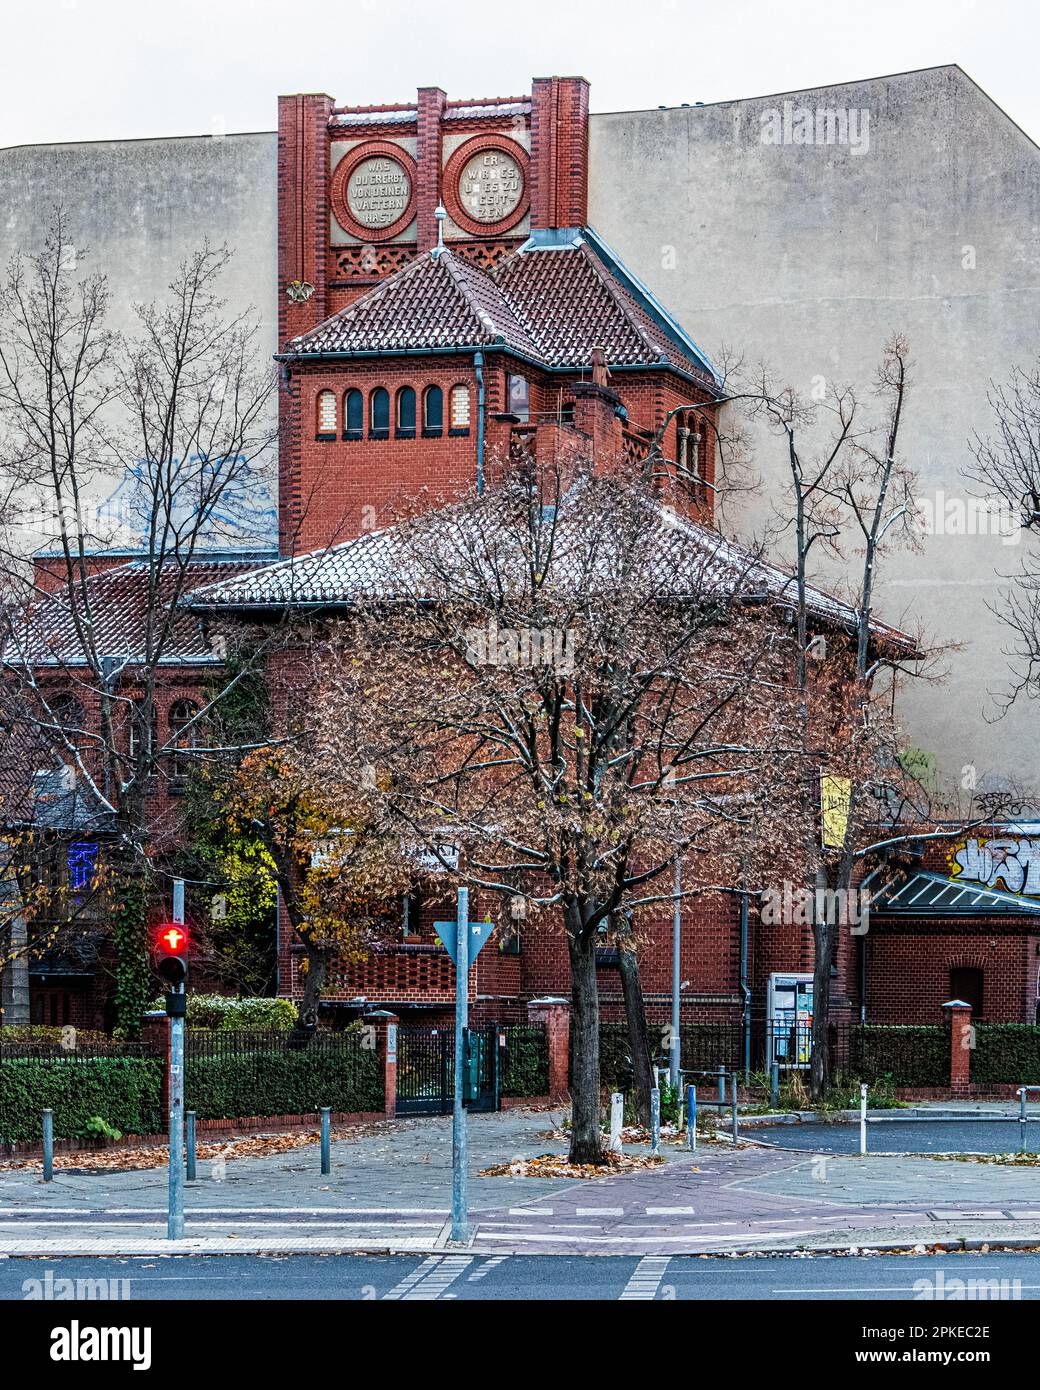
<instances>
[{"instance_id":1,"label":"asphalt road with white markings along the bottom foreground","mask_svg":"<svg viewBox=\"0 0 1040 1390\"><path fill-rule=\"evenodd\" d=\"M49 1283L50 1280L50 1283ZM1039 1254L704 1259L690 1257L327 1255L4 1259L0 1300L61 1293L58 1280L104 1280L106 1294L146 1300L695 1301L766 1298L913 1301L1040 1297ZM127 1284L122 1282L127 1280ZM1015 1283L1018 1280L1018 1283ZM108 1283L111 1282L111 1283ZM81 1283L88 1297L97 1284ZM980 1290L980 1291L979 1291ZM969 1297L970 1293L969 1293ZM0 1325L8 1319L0 1316ZM8 1323L10 1326L10 1323Z\"/></svg>"}]
</instances>

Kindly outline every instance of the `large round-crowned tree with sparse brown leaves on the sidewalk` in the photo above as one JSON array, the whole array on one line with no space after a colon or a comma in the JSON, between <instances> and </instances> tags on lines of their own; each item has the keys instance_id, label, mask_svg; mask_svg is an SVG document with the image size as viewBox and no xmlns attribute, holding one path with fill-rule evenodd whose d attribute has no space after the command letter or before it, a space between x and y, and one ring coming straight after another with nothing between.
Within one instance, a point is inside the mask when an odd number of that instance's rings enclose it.
<instances>
[{"instance_id":1,"label":"large round-crowned tree with sparse brown leaves on the sidewalk","mask_svg":"<svg viewBox=\"0 0 1040 1390\"><path fill-rule=\"evenodd\" d=\"M374 542L317 702L324 784L374 767L402 834L562 929L578 1162L602 1158L596 947L673 903L676 855L692 895L774 844L797 755L766 570L598 464L530 466Z\"/></svg>"}]
</instances>

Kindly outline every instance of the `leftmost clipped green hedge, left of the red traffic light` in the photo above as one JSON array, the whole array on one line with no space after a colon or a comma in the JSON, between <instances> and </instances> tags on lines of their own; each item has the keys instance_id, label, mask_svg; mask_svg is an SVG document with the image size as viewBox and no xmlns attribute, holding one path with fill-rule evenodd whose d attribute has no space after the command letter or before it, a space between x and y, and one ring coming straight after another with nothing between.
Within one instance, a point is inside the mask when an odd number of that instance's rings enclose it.
<instances>
[{"instance_id":1,"label":"leftmost clipped green hedge, left of the red traffic light","mask_svg":"<svg viewBox=\"0 0 1040 1390\"><path fill-rule=\"evenodd\" d=\"M163 1063L142 1056L4 1058L0 1061L0 1140L39 1140L40 1111L54 1112L56 1138L81 1138L100 1116L124 1134L161 1129Z\"/></svg>"}]
</instances>

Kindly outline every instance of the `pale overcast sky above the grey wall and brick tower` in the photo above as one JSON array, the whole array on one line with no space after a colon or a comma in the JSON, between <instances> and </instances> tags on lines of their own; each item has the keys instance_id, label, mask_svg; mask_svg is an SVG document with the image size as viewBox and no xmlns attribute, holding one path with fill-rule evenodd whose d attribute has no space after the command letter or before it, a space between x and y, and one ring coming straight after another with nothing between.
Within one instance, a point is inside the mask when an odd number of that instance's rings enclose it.
<instances>
[{"instance_id":1,"label":"pale overcast sky above the grey wall and brick tower","mask_svg":"<svg viewBox=\"0 0 1040 1390\"><path fill-rule=\"evenodd\" d=\"M1040 140L1037 0L0 0L0 145L268 131L341 104L527 92L722 101L959 63Z\"/></svg>"}]
</instances>

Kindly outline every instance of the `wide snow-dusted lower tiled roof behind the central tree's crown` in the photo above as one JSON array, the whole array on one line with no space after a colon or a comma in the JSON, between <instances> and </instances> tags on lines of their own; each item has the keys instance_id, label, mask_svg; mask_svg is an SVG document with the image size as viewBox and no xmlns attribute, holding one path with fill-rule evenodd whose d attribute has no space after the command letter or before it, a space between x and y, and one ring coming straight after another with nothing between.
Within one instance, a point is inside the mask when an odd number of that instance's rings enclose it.
<instances>
[{"instance_id":1,"label":"wide snow-dusted lower tiled roof behind the central tree's crown","mask_svg":"<svg viewBox=\"0 0 1040 1390\"><path fill-rule=\"evenodd\" d=\"M570 514L567 514L567 510ZM653 503L658 534L660 535L660 592L683 598L701 592L705 585L723 591L742 592L748 598L772 600L781 609L794 609L795 581L793 575L727 541L717 531L699 525L669 509ZM491 546L487 534L480 541L466 537L466 527L476 525L473 516L459 507L444 507L439 513L444 542L449 553L474 556L495 550L496 556L516 546L516 537L503 534L498 546ZM567 553L583 553L580 545L567 541L567 528L581 527L580 491L571 493L556 518L553 553L566 564ZM652 524L652 523L651 523ZM432 538L425 537L424 543ZM437 543L432 539L432 543ZM558 580L560 575L558 574ZM403 531L389 527L368 531L355 541L316 550L309 555L279 560L235 578L206 585L190 594L185 603L199 610L279 610L284 607L346 607L352 603L378 598L384 600L434 596L421 592L423 575L409 573L407 545ZM811 613L823 624L851 631L855 612L850 605L813 587L806 591ZM886 623L870 624L879 641L893 644L911 655L913 641Z\"/></svg>"}]
</instances>

